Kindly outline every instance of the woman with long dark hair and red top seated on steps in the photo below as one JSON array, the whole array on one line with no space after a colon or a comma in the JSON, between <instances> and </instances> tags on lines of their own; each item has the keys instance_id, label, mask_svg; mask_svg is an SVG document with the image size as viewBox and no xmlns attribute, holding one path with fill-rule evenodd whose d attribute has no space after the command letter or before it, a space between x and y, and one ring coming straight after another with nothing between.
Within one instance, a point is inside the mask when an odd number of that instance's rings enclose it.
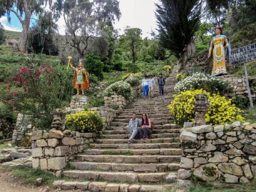
<instances>
[{"instance_id":1,"label":"woman with long dark hair and red top seated on steps","mask_svg":"<svg viewBox=\"0 0 256 192\"><path fill-rule=\"evenodd\" d=\"M141 136L141 140L148 140L148 136L153 133L152 124L145 113L142 114L141 121L142 125L137 129L137 131Z\"/></svg>"}]
</instances>

